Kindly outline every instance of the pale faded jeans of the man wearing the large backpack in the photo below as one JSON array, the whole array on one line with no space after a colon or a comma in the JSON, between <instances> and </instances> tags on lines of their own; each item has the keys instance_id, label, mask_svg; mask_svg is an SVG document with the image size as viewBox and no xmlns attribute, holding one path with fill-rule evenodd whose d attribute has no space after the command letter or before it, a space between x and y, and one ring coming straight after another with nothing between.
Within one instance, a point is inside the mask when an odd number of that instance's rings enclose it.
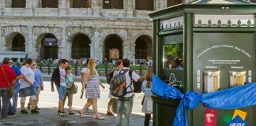
<instances>
[{"instance_id":1,"label":"pale faded jeans of the man wearing the large backpack","mask_svg":"<svg viewBox=\"0 0 256 126\"><path fill-rule=\"evenodd\" d=\"M116 126L130 126L130 114L134 106L134 97L119 99L116 117ZM122 114L124 113L124 125L122 125Z\"/></svg>"}]
</instances>

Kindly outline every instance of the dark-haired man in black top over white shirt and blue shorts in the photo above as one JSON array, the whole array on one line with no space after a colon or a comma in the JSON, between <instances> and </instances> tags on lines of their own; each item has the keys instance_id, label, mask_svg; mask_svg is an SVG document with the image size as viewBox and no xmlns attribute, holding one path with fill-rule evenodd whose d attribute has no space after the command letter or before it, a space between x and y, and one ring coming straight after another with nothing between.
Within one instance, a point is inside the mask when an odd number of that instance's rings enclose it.
<instances>
[{"instance_id":1,"label":"dark-haired man in black top over white shirt and blue shorts","mask_svg":"<svg viewBox=\"0 0 256 126\"><path fill-rule=\"evenodd\" d=\"M66 59L62 59L60 66L54 69L51 76L51 91L55 91L55 87L58 91L58 114L60 116L65 115L63 100L66 95L66 66L68 65L68 61ZM55 83L55 87L54 87Z\"/></svg>"}]
</instances>

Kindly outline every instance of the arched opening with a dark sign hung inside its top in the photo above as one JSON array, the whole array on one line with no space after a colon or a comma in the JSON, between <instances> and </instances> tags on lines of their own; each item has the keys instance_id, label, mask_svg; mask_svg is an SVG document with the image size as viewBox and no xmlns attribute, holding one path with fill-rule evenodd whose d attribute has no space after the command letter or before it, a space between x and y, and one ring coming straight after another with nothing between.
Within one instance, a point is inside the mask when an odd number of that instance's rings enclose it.
<instances>
[{"instance_id":1,"label":"arched opening with a dark sign hung inside its top","mask_svg":"<svg viewBox=\"0 0 256 126\"><path fill-rule=\"evenodd\" d=\"M55 35L52 35L51 33L40 35L38 43L41 43L41 59L54 60L58 58L58 40Z\"/></svg>"}]
</instances>

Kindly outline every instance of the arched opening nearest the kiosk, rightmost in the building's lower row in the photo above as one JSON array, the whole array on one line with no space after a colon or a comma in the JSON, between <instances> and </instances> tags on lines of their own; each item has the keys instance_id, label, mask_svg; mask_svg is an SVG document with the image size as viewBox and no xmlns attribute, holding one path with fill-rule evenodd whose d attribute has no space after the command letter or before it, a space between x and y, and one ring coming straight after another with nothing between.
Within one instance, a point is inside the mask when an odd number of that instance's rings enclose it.
<instances>
[{"instance_id":1,"label":"arched opening nearest the kiosk, rightmost in the building's lower row","mask_svg":"<svg viewBox=\"0 0 256 126\"><path fill-rule=\"evenodd\" d=\"M145 63L147 57L152 57L152 39L149 36L141 35L135 42L135 61Z\"/></svg>"}]
</instances>

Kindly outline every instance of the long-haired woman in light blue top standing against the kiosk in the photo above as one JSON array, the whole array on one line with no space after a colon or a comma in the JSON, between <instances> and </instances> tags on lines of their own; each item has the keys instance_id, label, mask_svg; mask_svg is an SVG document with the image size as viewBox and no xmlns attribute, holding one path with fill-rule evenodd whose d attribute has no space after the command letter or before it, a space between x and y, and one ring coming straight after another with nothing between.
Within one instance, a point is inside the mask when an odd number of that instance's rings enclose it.
<instances>
[{"instance_id":1,"label":"long-haired woman in light blue top standing against the kiosk","mask_svg":"<svg viewBox=\"0 0 256 126\"><path fill-rule=\"evenodd\" d=\"M152 114L152 69L148 69L145 73L145 80L142 83L141 91L145 93L142 112L145 113L144 126L149 126L149 121Z\"/></svg>"}]
</instances>

